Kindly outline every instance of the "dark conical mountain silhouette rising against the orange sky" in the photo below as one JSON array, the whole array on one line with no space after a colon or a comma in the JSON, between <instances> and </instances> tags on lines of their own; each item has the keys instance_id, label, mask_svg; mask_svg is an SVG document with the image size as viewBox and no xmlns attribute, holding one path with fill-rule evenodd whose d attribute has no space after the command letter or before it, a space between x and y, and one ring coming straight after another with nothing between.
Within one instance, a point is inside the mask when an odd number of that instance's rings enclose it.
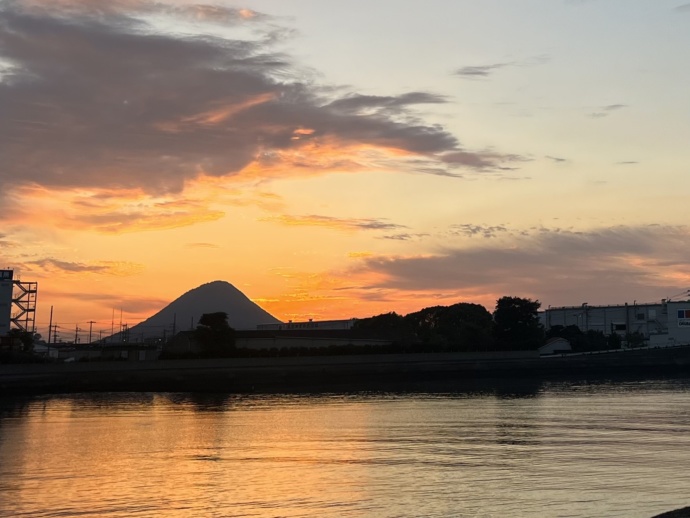
<instances>
[{"instance_id":1,"label":"dark conical mountain silhouette rising against the orange sky","mask_svg":"<svg viewBox=\"0 0 690 518\"><path fill-rule=\"evenodd\" d=\"M228 314L228 324L234 329L256 329L257 324L280 322L229 282L213 281L189 290L152 317L131 327L128 341L170 337L173 327L176 332L193 329L201 315L219 311ZM119 339L119 333L113 338Z\"/></svg>"}]
</instances>

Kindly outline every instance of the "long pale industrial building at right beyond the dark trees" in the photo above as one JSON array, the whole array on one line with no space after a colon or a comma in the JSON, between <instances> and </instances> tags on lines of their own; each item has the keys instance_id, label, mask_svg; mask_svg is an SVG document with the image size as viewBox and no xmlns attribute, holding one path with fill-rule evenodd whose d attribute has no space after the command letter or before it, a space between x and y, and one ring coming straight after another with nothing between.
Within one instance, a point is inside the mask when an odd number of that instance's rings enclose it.
<instances>
[{"instance_id":1,"label":"long pale industrial building at right beyond the dark trees","mask_svg":"<svg viewBox=\"0 0 690 518\"><path fill-rule=\"evenodd\" d=\"M618 306L549 307L542 314L546 329L577 326L580 331L616 333L625 340L629 333L640 333L650 347L690 344L690 301L623 304Z\"/></svg>"}]
</instances>

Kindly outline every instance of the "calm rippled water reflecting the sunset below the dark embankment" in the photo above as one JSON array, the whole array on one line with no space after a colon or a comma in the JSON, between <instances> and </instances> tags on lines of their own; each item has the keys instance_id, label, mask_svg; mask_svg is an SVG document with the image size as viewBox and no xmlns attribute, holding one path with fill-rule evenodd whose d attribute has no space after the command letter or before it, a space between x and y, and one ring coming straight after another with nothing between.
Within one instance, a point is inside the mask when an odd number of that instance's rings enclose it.
<instances>
[{"instance_id":1,"label":"calm rippled water reflecting the sunset below the dark embankment","mask_svg":"<svg viewBox=\"0 0 690 518\"><path fill-rule=\"evenodd\" d=\"M690 384L0 398L0 516L622 516L690 505Z\"/></svg>"}]
</instances>

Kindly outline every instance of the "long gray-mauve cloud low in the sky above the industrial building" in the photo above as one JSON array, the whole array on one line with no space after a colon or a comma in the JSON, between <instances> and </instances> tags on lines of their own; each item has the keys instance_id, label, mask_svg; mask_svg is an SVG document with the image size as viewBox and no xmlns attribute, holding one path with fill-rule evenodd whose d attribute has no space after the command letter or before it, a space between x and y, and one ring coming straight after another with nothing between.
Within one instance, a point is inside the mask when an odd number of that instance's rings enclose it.
<instances>
[{"instance_id":1,"label":"long gray-mauve cloud low in the sky above the industrial building","mask_svg":"<svg viewBox=\"0 0 690 518\"><path fill-rule=\"evenodd\" d=\"M435 256L370 257L362 264L387 277L376 288L483 290L553 305L657 300L687 283L689 237L687 228L664 226L539 229L501 246L487 241Z\"/></svg>"}]
</instances>

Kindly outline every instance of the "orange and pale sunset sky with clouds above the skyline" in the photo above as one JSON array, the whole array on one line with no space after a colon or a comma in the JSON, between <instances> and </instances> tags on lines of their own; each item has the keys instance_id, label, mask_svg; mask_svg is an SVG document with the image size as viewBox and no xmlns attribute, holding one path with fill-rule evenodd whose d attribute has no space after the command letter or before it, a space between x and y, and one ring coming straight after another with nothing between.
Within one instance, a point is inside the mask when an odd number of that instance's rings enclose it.
<instances>
[{"instance_id":1,"label":"orange and pale sunset sky with clouds above the skyline","mask_svg":"<svg viewBox=\"0 0 690 518\"><path fill-rule=\"evenodd\" d=\"M689 63L683 0L0 0L0 268L43 333L213 280L282 320L672 297Z\"/></svg>"}]
</instances>

